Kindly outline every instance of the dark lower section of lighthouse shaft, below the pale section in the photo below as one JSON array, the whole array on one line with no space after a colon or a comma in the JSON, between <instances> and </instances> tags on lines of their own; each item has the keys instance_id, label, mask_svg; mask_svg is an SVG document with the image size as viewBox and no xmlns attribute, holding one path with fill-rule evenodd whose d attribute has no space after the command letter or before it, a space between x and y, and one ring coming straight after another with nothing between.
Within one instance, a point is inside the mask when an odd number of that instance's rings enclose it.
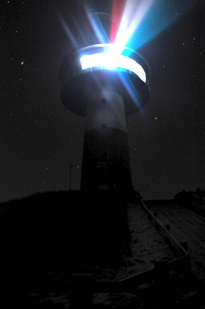
<instances>
[{"instance_id":1,"label":"dark lower section of lighthouse shaft, below the pale section","mask_svg":"<svg viewBox=\"0 0 205 309\"><path fill-rule=\"evenodd\" d=\"M81 190L133 190L127 133L115 128L85 133Z\"/></svg>"}]
</instances>

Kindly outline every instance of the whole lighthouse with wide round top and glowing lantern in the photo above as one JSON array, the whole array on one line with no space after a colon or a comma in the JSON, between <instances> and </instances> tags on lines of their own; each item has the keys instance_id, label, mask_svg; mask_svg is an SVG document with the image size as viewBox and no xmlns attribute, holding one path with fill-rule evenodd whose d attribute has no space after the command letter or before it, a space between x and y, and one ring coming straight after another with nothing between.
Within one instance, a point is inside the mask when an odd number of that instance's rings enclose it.
<instances>
[{"instance_id":1,"label":"whole lighthouse with wide round top and glowing lantern","mask_svg":"<svg viewBox=\"0 0 205 309\"><path fill-rule=\"evenodd\" d=\"M61 100L86 119L81 190L132 190L126 116L149 100L150 67L136 51L94 44L70 53Z\"/></svg>"}]
</instances>

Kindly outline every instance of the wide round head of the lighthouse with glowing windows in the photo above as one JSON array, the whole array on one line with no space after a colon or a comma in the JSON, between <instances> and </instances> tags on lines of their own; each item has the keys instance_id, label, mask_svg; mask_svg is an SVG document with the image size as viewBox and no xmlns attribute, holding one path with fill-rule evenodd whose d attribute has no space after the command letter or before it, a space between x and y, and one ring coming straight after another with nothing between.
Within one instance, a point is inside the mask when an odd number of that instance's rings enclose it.
<instances>
[{"instance_id":1,"label":"wide round head of the lighthouse with glowing windows","mask_svg":"<svg viewBox=\"0 0 205 309\"><path fill-rule=\"evenodd\" d=\"M87 97L111 90L123 96L125 115L131 115L149 100L151 70L136 51L115 44L96 44L68 54L61 64L61 99L66 108L85 116Z\"/></svg>"}]
</instances>

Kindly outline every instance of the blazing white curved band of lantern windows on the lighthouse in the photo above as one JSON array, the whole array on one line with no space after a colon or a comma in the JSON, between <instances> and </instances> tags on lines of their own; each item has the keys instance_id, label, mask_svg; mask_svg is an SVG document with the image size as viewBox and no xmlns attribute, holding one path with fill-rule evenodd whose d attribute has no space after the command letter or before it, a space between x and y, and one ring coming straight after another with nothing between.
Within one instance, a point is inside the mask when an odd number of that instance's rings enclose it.
<instances>
[{"instance_id":1,"label":"blazing white curved band of lantern windows on the lighthouse","mask_svg":"<svg viewBox=\"0 0 205 309\"><path fill-rule=\"evenodd\" d=\"M107 53L83 56L81 58L81 65L82 70L93 67L98 67L99 70L100 68L101 70L115 70L115 68L127 69L135 73L144 83L146 83L146 74L140 64L131 58L120 55L119 53L114 53L114 50Z\"/></svg>"}]
</instances>

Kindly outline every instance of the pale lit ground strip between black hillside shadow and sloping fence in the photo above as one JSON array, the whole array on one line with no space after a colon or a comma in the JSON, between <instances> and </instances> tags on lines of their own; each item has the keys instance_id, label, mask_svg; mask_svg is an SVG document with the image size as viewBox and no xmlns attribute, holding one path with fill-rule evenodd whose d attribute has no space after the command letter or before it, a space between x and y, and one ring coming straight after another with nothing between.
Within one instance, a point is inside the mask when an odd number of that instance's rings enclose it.
<instances>
[{"instance_id":1,"label":"pale lit ground strip between black hillside shadow and sloping fence","mask_svg":"<svg viewBox=\"0 0 205 309\"><path fill-rule=\"evenodd\" d=\"M154 261L175 258L140 205L128 204L128 225L131 235L132 257L125 257L127 267L122 267L117 272L107 269L97 276L97 280L117 281L154 268Z\"/></svg>"}]
</instances>

